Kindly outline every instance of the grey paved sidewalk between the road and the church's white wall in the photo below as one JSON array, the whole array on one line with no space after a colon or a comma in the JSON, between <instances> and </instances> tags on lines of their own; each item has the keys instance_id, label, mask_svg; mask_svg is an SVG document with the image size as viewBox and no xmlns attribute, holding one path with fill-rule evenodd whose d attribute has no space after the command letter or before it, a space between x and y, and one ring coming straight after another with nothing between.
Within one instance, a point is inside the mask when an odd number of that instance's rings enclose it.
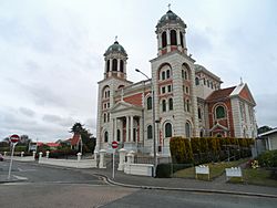
<instances>
[{"instance_id":1,"label":"grey paved sidewalk between the road and the church's white wall","mask_svg":"<svg viewBox=\"0 0 277 208\"><path fill-rule=\"evenodd\" d=\"M112 179L112 169L83 169L81 171L103 176L109 183L125 187L219 193L277 198L277 188L275 187L254 186L247 184L228 184L223 178L212 181L185 178L153 178L126 175L116 170L115 177Z\"/></svg>"}]
</instances>

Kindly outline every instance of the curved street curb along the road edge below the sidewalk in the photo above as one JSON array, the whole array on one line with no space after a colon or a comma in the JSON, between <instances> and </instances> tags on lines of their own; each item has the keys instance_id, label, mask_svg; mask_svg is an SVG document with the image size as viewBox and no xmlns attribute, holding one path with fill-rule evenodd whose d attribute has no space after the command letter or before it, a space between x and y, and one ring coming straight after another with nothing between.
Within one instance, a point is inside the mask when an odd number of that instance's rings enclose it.
<instances>
[{"instance_id":1,"label":"curved street curb along the road edge below the sidewalk","mask_svg":"<svg viewBox=\"0 0 277 208\"><path fill-rule=\"evenodd\" d=\"M102 177L106 183L122 186L126 188L140 188L140 189L156 189L156 190L175 190L175 191L186 191L186 193L206 193L206 194L222 194L222 195L235 195L235 196L249 196L249 197L264 197L264 198L277 198L277 195L258 194L258 193L242 193L242 191L230 191L230 190L215 190L215 189L199 189L199 188L172 188L172 187L160 187L160 186L137 186L130 184L122 184L112 180L105 175L94 174L95 176Z\"/></svg>"}]
</instances>

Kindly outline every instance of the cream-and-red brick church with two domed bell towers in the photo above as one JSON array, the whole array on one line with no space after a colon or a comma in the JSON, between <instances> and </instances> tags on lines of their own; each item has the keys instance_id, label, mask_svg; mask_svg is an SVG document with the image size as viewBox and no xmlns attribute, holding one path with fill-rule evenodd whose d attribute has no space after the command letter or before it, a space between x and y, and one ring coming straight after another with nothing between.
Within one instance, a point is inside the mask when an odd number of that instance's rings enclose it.
<instances>
[{"instance_id":1,"label":"cream-and-red brick church with two domed bell towers","mask_svg":"<svg viewBox=\"0 0 277 208\"><path fill-rule=\"evenodd\" d=\"M247 86L222 89L220 77L195 64L186 24L168 10L156 24L157 56L144 81L127 80L127 53L115 41L104 53L99 82L96 149L111 143L137 153L170 155L173 136L256 137L255 101Z\"/></svg>"}]
</instances>

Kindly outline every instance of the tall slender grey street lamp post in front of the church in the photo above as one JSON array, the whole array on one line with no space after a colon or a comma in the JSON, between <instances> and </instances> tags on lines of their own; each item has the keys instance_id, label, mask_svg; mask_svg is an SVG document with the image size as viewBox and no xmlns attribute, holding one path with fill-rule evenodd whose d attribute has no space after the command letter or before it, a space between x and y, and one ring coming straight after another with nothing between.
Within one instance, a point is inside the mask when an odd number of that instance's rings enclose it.
<instances>
[{"instance_id":1,"label":"tall slender grey street lamp post in front of the church","mask_svg":"<svg viewBox=\"0 0 277 208\"><path fill-rule=\"evenodd\" d=\"M135 69L136 72L141 73L142 75L144 75L147 80L151 80L146 74L144 74L142 71ZM152 119L153 119L153 127L152 127L152 135L153 135L153 154L154 154L154 173L153 173L153 177L156 176L156 165L157 165L157 158L156 158L156 134L155 134L155 100L154 100L154 85L153 82L151 80L151 90L152 90Z\"/></svg>"}]
</instances>

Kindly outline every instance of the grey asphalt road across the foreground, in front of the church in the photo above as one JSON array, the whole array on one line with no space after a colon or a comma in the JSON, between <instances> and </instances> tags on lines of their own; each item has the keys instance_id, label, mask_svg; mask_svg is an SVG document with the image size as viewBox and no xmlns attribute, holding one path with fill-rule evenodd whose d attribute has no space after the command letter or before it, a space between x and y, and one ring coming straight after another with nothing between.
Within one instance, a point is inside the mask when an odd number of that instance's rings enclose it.
<instances>
[{"instance_id":1,"label":"grey asphalt road across the foreground, in front of the church","mask_svg":"<svg viewBox=\"0 0 277 208\"><path fill-rule=\"evenodd\" d=\"M0 175L8 174L8 165L0 163ZM12 176L23 180L0 184L1 208L274 208L277 205L276 198L111 186L88 171L29 163L14 162Z\"/></svg>"}]
</instances>

